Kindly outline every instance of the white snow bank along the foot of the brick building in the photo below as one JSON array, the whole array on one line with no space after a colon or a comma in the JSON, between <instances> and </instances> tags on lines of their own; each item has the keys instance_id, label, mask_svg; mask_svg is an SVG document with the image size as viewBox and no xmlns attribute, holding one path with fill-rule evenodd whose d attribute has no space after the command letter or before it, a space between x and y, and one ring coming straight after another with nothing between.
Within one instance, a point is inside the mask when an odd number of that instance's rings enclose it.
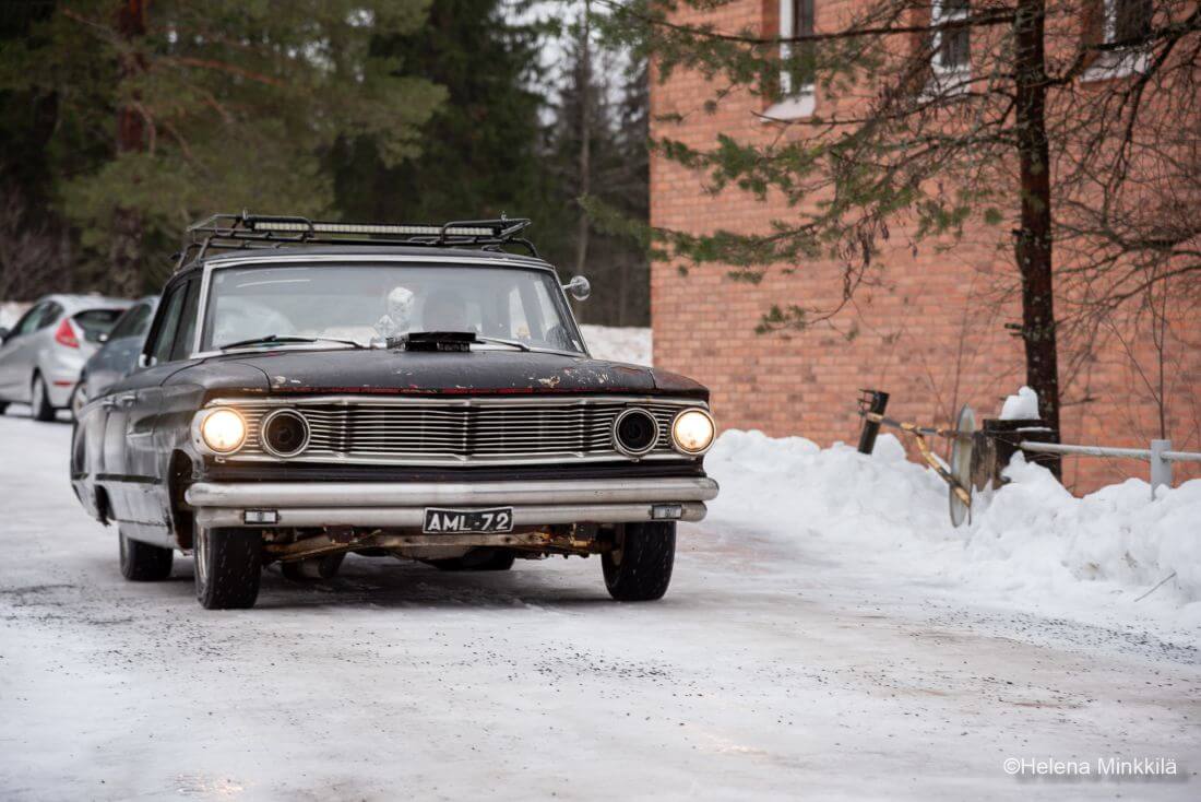
<instances>
[{"instance_id":1,"label":"white snow bank along the foot of the brick building","mask_svg":"<svg viewBox=\"0 0 1201 802\"><path fill-rule=\"evenodd\" d=\"M1164 488L1154 501L1135 479L1075 498L1046 469L1017 458L1011 482L978 495L973 521L956 529L946 486L908 461L892 435L880 435L868 457L843 444L819 448L803 438L730 430L705 465L722 492L704 525L733 536L765 533L800 565L858 565L873 582L896 576L898 586L903 576L1083 619L1104 608L1173 626L1201 623L1201 480Z\"/></svg>"}]
</instances>

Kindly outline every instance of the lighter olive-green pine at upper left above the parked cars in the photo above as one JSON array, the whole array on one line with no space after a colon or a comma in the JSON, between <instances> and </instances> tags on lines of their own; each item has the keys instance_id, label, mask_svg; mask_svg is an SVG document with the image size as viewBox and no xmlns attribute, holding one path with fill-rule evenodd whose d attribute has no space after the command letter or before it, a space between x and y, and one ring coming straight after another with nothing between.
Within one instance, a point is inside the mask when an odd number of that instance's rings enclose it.
<instances>
[{"instance_id":1,"label":"lighter olive-green pine at upper left above the parked cars","mask_svg":"<svg viewBox=\"0 0 1201 802\"><path fill-rule=\"evenodd\" d=\"M95 286L154 286L183 226L250 208L331 210L325 168L346 132L393 166L444 94L372 52L425 0L59 2L0 54L0 89L56 99L58 202Z\"/></svg>"}]
</instances>

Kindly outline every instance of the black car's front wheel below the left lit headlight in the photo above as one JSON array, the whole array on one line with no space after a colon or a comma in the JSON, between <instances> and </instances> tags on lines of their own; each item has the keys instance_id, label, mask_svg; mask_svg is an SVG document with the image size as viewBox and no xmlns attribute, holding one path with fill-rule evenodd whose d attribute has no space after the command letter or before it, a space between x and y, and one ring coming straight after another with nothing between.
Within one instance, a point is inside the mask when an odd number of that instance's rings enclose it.
<instances>
[{"instance_id":1,"label":"black car's front wheel below the left lit headlight","mask_svg":"<svg viewBox=\"0 0 1201 802\"><path fill-rule=\"evenodd\" d=\"M263 542L257 529L196 531L196 599L205 610L245 610L258 599Z\"/></svg>"}]
</instances>

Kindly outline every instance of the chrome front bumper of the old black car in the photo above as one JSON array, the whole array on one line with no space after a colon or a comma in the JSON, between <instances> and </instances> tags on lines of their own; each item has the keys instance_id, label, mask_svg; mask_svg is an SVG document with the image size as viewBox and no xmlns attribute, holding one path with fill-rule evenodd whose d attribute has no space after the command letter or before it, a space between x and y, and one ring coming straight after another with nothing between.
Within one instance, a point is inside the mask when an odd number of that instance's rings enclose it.
<instances>
[{"instance_id":1,"label":"chrome front bumper of the old black car","mask_svg":"<svg viewBox=\"0 0 1201 802\"><path fill-rule=\"evenodd\" d=\"M700 521L717 497L712 479L551 480L536 482L201 482L187 503L204 527L247 525L270 511L271 527L422 528L425 507L512 506L515 530L563 523ZM658 515L656 515L658 512ZM676 515L677 512L677 515Z\"/></svg>"}]
</instances>

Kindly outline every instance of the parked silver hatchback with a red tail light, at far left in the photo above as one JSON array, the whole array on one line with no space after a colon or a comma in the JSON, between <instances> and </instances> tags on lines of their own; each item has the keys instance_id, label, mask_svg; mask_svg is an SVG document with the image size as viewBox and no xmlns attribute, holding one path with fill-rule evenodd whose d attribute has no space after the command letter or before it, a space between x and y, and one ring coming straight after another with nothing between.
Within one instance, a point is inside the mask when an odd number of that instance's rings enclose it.
<instances>
[{"instance_id":1,"label":"parked silver hatchback with a red tail light, at far left","mask_svg":"<svg viewBox=\"0 0 1201 802\"><path fill-rule=\"evenodd\" d=\"M70 406L79 372L132 302L101 296L41 298L12 331L0 328L0 412L30 404L38 421Z\"/></svg>"}]
</instances>

